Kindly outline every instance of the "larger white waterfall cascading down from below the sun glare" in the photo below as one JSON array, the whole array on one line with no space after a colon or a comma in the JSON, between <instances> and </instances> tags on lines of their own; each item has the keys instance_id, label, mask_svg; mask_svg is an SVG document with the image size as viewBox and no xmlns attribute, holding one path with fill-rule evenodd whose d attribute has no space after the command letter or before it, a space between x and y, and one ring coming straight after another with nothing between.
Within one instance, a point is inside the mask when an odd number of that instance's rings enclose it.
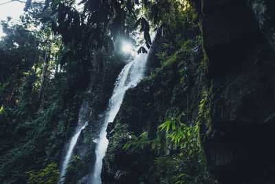
<instances>
[{"instance_id":1,"label":"larger white waterfall cascading down from below the sun glare","mask_svg":"<svg viewBox=\"0 0 275 184\"><path fill-rule=\"evenodd\" d=\"M91 184L101 183L100 173L102 168L102 159L109 143L106 138L107 125L115 119L115 115L120 109L126 90L135 87L135 85L137 85L137 83L144 78L147 57L148 54L139 54L135 56L133 61L124 66L117 81L115 82L115 88L111 99L109 100L109 107L107 112L105 112L104 124L100 130L98 144L96 145L96 164L94 165L94 173L91 176Z\"/></svg>"}]
</instances>

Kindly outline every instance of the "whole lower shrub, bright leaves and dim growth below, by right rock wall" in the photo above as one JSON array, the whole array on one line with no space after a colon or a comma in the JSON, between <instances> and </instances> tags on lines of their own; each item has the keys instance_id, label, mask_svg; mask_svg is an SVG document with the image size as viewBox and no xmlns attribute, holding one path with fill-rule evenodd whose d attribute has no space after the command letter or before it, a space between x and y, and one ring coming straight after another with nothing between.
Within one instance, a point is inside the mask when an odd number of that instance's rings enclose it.
<instances>
[{"instance_id":1,"label":"whole lower shrub, bright leaves and dim growth below, by right rock wall","mask_svg":"<svg viewBox=\"0 0 275 184\"><path fill-rule=\"evenodd\" d=\"M159 125L157 139L150 140L146 132L140 136L131 135L124 150L142 149L151 145L157 152L157 171L151 178L161 178L168 183L217 183L208 173L203 152L198 144L197 126L188 127L181 122L185 114L172 118Z\"/></svg>"}]
</instances>

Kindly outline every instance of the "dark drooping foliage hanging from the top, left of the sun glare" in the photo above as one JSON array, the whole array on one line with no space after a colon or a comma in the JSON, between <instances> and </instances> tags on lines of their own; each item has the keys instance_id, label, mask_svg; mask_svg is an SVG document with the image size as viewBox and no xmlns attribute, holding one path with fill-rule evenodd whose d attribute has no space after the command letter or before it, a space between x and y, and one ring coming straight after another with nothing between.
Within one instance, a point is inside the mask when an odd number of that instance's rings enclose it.
<instances>
[{"instance_id":1,"label":"dark drooping foliage hanging from the top, left of the sun glare","mask_svg":"<svg viewBox=\"0 0 275 184\"><path fill-rule=\"evenodd\" d=\"M130 25L136 19L135 3L138 1L83 0L79 3L83 10L78 11L74 1L45 1L43 12L52 13L44 19L70 48L61 59L61 67L76 59L87 66L93 50L113 49L116 37L130 39ZM148 36L148 30L144 32Z\"/></svg>"}]
</instances>

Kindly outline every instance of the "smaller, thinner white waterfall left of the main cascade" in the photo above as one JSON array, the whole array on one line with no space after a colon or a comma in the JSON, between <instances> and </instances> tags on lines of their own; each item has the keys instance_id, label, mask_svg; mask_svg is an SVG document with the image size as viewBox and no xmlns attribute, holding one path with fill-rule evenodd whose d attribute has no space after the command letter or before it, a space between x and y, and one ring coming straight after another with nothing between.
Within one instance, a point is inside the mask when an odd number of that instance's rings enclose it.
<instances>
[{"instance_id":1,"label":"smaller, thinner white waterfall left of the main cascade","mask_svg":"<svg viewBox=\"0 0 275 184\"><path fill-rule=\"evenodd\" d=\"M74 135L72 136L72 139L69 141L69 144L67 145L67 152L66 152L65 158L63 159L63 164L61 166L61 174L60 174L61 183L65 181L64 176L66 174L66 168L68 166L69 159L71 159L72 157L74 147L76 146L76 143L78 141L78 137L80 136L81 131L88 124L88 121L90 118L91 118L91 109L89 108L87 103L83 102L78 114L78 125L74 130Z\"/></svg>"}]
</instances>

